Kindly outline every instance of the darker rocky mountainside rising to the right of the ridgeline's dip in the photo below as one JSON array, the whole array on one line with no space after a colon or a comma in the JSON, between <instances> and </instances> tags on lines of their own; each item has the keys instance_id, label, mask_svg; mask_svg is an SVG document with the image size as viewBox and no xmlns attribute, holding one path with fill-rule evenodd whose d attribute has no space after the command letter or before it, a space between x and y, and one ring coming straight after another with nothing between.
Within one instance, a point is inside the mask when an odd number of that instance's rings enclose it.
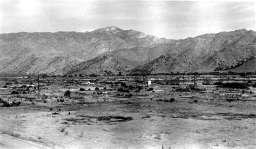
<instances>
[{"instance_id":1,"label":"darker rocky mountainside rising to the right of the ridgeline's dip","mask_svg":"<svg viewBox=\"0 0 256 149\"><path fill-rule=\"evenodd\" d=\"M178 40L168 54L140 65L132 72L207 72L232 70L255 59L256 35L254 31L236 30L206 34ZM255 65L242 71L254 71Z\"/></svg>"}]
</instances>

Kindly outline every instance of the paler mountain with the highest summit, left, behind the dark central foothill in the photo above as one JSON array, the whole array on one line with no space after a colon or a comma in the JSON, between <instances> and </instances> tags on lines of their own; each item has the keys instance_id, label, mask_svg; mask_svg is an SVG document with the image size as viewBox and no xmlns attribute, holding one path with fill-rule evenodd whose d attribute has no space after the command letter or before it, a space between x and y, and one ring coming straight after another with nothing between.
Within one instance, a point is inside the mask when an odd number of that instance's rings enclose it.
<instances>
[{"instance_id":1,"label":"paler mountain with the highest summit, left, behind the dark central foothill","mask_svg":"<svg viewBox=\"0 0 256 149\"><path fill-rule=\"evenodd\" d=\"M66 73L111 51L164 42L168 40L112 26L92 32L5 33L0 35L0 73Z\"/></svg>"}]
</instances>

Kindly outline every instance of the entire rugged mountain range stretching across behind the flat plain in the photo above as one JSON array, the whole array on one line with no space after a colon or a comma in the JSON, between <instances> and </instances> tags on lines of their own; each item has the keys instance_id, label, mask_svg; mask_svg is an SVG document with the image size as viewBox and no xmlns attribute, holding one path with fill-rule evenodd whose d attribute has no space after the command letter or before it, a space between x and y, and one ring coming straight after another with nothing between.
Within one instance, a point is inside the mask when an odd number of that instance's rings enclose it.
<instances>
[{"instance_id":1,"label":"entire rugged mountain range stretching across behind the flat plain","mask_svg":"<svg viewBox=\"0 0 256 149\"><path fill-rule=\"evenodd\" d=\"M166 39L114 26L0 34L0 75L256 71L252 30Z\"/></svg>"}]
</instances>

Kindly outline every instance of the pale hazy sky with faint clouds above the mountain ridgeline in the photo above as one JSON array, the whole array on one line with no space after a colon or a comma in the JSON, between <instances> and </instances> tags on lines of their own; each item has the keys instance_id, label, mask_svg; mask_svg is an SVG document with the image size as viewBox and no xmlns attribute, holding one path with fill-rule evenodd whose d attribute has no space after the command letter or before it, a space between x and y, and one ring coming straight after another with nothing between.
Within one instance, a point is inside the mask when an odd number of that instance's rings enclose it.
<instances>
[{"instance_id":1,"label":"pale hazy sky with faint clouds above the mountain ridgeline","mask_svg":"<svg viewBox=\"0 0 256 149\"><path fill-rule=\"evenodd\" d=\"M180 39L255 31L255 2L1 1L0 33L92 31L106 26Z\"/></svg>"}]
</instances>

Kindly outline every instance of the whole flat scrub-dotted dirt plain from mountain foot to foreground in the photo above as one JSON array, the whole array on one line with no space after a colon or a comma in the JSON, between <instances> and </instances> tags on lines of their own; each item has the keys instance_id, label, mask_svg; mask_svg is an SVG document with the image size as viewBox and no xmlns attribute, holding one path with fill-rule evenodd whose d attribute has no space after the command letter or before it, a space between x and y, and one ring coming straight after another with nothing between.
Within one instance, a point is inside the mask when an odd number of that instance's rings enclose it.
<instances>
[{"instance_id":1,"label":"whole flat scrub-dotted dirt plain from mountain foot to foreground","mask_svg":"<svg viewBox=\"0 0 256 149\"><path fill-rule=\"evenodd\" d=\"M1 78L0 147L256 147L256 76L143 78Z\"/></svg>"}]
</instances>

